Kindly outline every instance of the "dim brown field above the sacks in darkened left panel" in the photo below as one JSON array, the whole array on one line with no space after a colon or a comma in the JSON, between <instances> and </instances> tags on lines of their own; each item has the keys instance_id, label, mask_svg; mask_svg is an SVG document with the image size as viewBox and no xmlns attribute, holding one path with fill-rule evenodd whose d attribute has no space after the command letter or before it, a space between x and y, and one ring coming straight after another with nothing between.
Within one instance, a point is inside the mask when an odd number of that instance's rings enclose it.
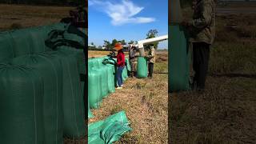
<instances>
[{"instance_id":1,"label":"dim brown field above the sacks in darkened left panel","mask_svg":"<svg viewBox=\"0 0 256 144\"><path fill-rule=\"evenodd\" d=\"M0 4L0 31L43 26L69 16L72 7Z\"/></svg>"}]
</instances>

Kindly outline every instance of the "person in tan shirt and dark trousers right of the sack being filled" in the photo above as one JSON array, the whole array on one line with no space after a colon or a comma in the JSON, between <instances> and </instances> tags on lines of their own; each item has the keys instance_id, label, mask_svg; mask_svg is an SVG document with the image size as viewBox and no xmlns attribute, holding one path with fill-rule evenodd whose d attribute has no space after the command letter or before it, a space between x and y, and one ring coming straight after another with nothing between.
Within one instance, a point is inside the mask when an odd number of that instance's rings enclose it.
<instances>
[{"instance_id":1,"label":"person in tan shirt and dark trousers right of the sack being filled","mask_svg":"<svg viewBox=\"0 0 256 144\"><path fill-rule=\"evenodd\" d=\"M149 62L149 64L148 64L148 70L149 70L148 77L153 78L154 62L155 62L154 46L150 46L150 51L149 51L149 54L146 56L146 58Z\"/></svg>"}]
</instances>

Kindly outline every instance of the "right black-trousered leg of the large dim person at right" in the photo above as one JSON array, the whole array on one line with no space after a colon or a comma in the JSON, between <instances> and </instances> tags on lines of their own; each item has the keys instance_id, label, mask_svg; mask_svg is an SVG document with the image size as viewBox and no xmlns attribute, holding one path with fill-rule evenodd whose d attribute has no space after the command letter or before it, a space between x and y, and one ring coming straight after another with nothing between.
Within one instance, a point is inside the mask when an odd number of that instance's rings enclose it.
<instances>
[{"instance_id":1,"label":"right black-trousered leg of the large dim person at right","mask_svg":"<svg viewBox=\"0 0 256 144\"><path fill-rule=\"evenodd\" d=\"M205 42L200 43L199 54L201 57L201 61L199 62L198 67L198 89L204 90L206 83L206 74L208 71L208 63L210 57L210 45Z\"/></svg>"}]
</instances>

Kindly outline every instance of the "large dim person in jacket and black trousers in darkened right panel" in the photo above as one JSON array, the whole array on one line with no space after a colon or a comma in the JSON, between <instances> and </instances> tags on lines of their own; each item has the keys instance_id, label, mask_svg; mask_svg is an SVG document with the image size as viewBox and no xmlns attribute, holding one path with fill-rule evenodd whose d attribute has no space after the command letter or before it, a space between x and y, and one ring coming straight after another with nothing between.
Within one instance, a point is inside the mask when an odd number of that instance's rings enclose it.
<instances>
[{"instance_id":1,"label":"large dim person in jacket and black trousers in darkened right panel","mask_svg":"<svg viewBox=\"0 0 256 144\"><path fill-rule=\"evenodd\" d=\"M210 45L215 37L215 2L214 0L194 0L193 20L183 21L190 32L190 42L193 46L194 80L192 89L205 89L206 74L210 57Z\"/></svg>"}]
</instances>

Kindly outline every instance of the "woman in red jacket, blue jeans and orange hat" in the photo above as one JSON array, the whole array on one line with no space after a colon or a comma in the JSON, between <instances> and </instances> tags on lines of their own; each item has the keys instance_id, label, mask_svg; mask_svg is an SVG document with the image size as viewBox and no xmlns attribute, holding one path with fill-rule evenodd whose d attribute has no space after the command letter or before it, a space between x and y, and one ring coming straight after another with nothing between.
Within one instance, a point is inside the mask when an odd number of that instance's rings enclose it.
<instances>
[{"instance_id":1,"label":"woman in red jacket, blue jeans and orange hat","mask_svg":"<svg viewBox=\"0 0 256 144\"><path fill-rule=\"evenodd\" d=\"M122 51L122 44L121 43L116 43L114 45L114 49L118 50L118 55L117 55L117 73L116 73L116 77L118 79L118 87L117 89L122 89L122 70L125 68L126 66L126 58L125 58L125 54Z\"/></svg>"}]
</instances>

